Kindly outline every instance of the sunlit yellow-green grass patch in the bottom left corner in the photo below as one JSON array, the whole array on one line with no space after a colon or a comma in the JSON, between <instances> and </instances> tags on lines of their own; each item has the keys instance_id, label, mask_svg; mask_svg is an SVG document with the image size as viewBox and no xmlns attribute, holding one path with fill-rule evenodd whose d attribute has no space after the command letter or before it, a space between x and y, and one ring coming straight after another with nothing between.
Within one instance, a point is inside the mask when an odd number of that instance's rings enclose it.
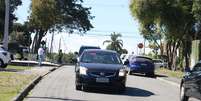
<instances>
[{"instance_id":1,"label":"sunlit yellow-green grass patch in the bottom left corner","mask_svg":"<svg viewBox=\"0 0 201 101\"><path fill-rule=\"evenodd\" d=\"M0 101L11 101L36 75L0 72Z\"/></svg>"}]
</instances>

